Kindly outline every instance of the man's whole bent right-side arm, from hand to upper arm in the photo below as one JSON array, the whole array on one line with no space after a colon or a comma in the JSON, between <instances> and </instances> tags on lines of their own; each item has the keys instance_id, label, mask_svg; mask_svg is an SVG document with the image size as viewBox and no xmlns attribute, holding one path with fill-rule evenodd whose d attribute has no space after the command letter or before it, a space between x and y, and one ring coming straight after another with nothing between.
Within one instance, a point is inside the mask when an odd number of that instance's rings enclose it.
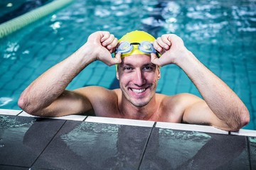
<instances>
[{"instance_id":1,"label":"man's whole bent right-side arm, from hand to upper arm","mask_svg":"<svg viewBox=\"0 0 256 170\"><path fill-rule=\"evenodd\" d=\"M162 35L154 41L154 47L162 56L158 59L152 54L151 62L160 66L178 65L203 96L204 101L188 100L183 113L184 121L209 123L231 131L239 130L249 122L249 112L240 98L186 49L181 38L173 34Z\"/></svg>"}]
</instances>

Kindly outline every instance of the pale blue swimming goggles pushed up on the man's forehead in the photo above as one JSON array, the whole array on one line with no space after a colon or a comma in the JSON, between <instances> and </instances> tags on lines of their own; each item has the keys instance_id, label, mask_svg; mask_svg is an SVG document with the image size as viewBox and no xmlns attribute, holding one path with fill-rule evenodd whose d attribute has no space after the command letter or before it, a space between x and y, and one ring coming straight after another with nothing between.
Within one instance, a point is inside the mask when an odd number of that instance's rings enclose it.
<instances>
[{"instance_id":1,"label":"pale blue swimming goggles pushed up on the man's forehead","mask_svg":"<svg viewBox=\"0 0 256 170\"><path fill-rule=\"evenodd\" d=\"M154 49L154 46L149 41L132 42L132 43L124 41L119 45L119 47L117 47L116 53L121 53L121 54L129 53L134 49L134 45L138 45L138 49L141 52L144 52L147 54L155 53L157 56L159 56L159 52L157 52Z\"/></svg>"}]
</instances>

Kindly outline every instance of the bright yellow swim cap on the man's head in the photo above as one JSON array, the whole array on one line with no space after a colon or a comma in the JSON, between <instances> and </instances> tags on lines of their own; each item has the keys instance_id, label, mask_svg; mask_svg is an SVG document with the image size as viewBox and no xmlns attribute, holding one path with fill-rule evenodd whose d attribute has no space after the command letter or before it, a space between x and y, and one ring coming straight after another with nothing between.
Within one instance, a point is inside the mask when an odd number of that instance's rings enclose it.
<instances>
[{"instance_id":1,"label":"bright yellow swim cap on the man's head","mask_svg":"<svg viewBox=\"0 0 256 170\"><path fill-rule=\"evenodd\" d=\"M127 34L125 34L124 36L122 36L122 38L120 38L118 41L127 41L127 42L143 42L143 41L149 41L149 42L153 42L154 40L156 40L156 38L154 38L152 35L150 35L149 33L146 33L145 31L142 30L134 30L132 32L129 32ZM134 45L134 49L131 52L122 54L122 57L126 57L129 55L149 55L145 52L142 52L138 49L138 45Z\"/></svg>"}]
</instances>

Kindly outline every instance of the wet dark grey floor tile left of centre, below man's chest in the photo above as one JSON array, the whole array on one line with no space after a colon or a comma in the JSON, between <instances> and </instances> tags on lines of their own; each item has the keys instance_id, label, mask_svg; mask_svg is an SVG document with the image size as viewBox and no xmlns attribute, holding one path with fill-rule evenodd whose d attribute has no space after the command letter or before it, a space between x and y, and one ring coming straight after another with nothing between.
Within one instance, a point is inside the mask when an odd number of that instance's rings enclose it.
<instances>
[{"instance_id":1,"label":"wet dark grey floor tile left of centre, below man's chest","mask_svg":"<svg viewBox=\"0 0 256 170\"><path fill-rule=\"evenodd\" d=\"M41 127L42 131L47 128ZM47 164L49 169L137 169L150 131L144 127L67 121L36 167ZM33 143L33 135L32 130L26 132L27 146Z\"/></svg>"}]
</instances>

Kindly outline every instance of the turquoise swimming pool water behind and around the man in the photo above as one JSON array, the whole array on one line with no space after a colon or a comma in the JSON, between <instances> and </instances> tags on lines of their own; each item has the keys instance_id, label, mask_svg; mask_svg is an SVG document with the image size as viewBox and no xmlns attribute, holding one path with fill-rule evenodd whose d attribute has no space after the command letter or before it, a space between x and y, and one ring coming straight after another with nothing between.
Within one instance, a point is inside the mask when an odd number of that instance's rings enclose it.
<instances>
[{"instance_id":1,"label":"turquoise swimming pool water behind and around the man","mask_svg":"<svg viewBox=\"0 0 256 170\"><path fill-rule=\"evenodd\" d=\"M18 97L46 69L75 52L96 30L117 38L131 30L155 37L176 33L186 47L235 93L250 111L246 129L256 130L255 1L76 0L0 40L0 108L18 109ZM68 71L68 70L67 70ZM118 87L115 68L94 62L68 86ZM159 93L200 96L181 69L161 68Z\"/></svg>"}]
</instances>

